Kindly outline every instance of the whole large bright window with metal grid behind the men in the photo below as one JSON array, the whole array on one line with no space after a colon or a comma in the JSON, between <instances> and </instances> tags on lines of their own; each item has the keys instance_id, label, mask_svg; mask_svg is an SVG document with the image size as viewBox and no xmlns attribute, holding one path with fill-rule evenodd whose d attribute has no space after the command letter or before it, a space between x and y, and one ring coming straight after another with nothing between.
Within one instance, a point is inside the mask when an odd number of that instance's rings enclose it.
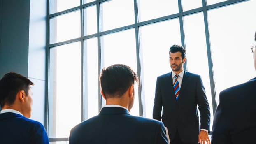
<instances>
[{"instance_id":1,"label":"whole large bright window with metal grid behind the men","mask_svg":"<svg viewBox=\"0 0 256 144\"><path fill-rule=\"evenodd\" d=\"M253 0L48 0L47 131L68 144L74 125L105 100L103 67L129 65L139 76L130 114L152 118L156 78L170 72L169 48L187 50L185 70L199 74L211 109L219 92L254 77Z\"/></svg>"}]
</instances>

